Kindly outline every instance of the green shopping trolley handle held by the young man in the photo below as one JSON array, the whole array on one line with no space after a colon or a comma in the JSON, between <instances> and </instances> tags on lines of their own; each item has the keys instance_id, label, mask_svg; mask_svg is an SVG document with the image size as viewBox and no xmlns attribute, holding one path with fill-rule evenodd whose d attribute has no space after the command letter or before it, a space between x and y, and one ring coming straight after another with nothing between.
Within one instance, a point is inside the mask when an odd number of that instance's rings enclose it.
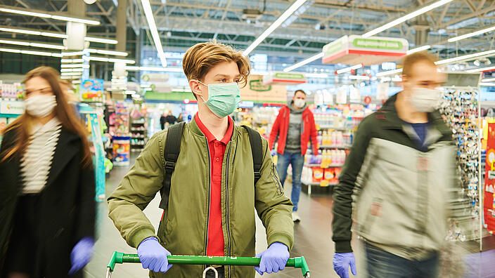
<instances>
[{"instance_id":1,"label":"green shopping trolley handle held by the young man","mask_svg":"<svg viewBox=\"0 0 495 278\"><path fill-rule=\"evenodd\" d=\"M169 263L172 265L245 265L245 266L258 266L261 258L254 257L210 257L210 256L180 256L171 255L167 256ZM107 265L106 278L112 276L112 272L115 269L117 263L141 263L139 257L136 254L124 254L120 252L113 252L112 258ZM290 258L287 262L287 267L300 268L302 275L309 278L309 267L304 257ZM212 270L215 273L215 277L218 277L217 270L214 267L207 267L203 272L203 278L208 270Z\"/></svg>"}]
</instances>

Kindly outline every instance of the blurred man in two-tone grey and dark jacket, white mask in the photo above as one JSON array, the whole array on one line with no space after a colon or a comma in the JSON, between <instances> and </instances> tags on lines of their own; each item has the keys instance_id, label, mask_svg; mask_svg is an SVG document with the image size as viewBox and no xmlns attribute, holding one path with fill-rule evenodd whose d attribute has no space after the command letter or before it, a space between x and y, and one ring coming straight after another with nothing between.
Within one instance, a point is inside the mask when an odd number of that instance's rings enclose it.
<instances>
[{"instance_id":1,"label":"blurred man in two-tone grey and dark jacket, white mask","mask_svg":"<svg viewBox=\"0 0 495 278\"><path fill-rule=\"evenodd\" d=\"M444 74L426 53L406 56L404 90L359 125L334 187L333 265L356 274L352 201L366 251L364 277L437 277L454 187L455 146L435 107ZM353 196L354 192L354 196Z\"/></svg>"}]
</instances>

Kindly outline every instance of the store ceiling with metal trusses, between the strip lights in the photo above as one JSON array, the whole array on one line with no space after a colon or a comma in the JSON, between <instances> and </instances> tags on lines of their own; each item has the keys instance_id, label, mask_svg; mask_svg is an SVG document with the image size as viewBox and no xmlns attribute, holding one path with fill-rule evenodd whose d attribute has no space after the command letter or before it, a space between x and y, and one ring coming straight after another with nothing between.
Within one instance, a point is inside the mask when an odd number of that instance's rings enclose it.
<instances>
[{"instance_id":1,"label":"store ceiling with metal trusses, between the strip lights","mask_svg":"<svg viewBox=\"0 0 495 278\"><path fill-rule=\"evenodd\" d=\"M128 25L136 34L149 36L141 0L128 1ZM87 16L101 19L102 25L89 27L89 34L115 35L117 0L98 0L87 6ZM293 1L289 0L152 0L155 21L165 51L184 51L200 41L218 39L237 48L246 48ZM279 27L256 52L280 55L311 55L323 45L345 34L364 34L385 22L405 15L429 0L313 0L306 10L285 27ZM67 1L0 0L8 6L45 11L66 11ZM40 27L63 31L65 22L54 22L19 15L4 15L1 25ZM495 25L494 0L454 0L416 20L378 34L404 37L412 47L416 42L434 45L441 56L456 52L483 51L494 48L495 32L484 36L447 43L456 34L473 32ZM428 29L428 39L417 41L418 29ZM149 43L148 43L149 44ZM297 53L297 54L296 54Z\"/></svg>"}]
</instances>

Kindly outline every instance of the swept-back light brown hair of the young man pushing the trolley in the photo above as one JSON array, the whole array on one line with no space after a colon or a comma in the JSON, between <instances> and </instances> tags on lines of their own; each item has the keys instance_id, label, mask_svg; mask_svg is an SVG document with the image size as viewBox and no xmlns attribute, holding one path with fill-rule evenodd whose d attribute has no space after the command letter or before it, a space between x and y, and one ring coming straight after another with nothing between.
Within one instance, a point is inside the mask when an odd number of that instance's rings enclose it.
<instances>
[{"instance_id":1,"label":"swept-back light brown hair of the young man pushing the trolley","mask_svg":"<svg viewBox=\"0 0 495 278\"><path fill-rule=\"evenodd\" d=\"M245 57L232 46L217 43L217 41L208 41L191 46L184 59L182 68L188 80L198 79L202 81L207 72L221 62L236 62L240 72L240 84L245 86L248 83L250 74L249 58Z\"/></svg>"}]
</instances>

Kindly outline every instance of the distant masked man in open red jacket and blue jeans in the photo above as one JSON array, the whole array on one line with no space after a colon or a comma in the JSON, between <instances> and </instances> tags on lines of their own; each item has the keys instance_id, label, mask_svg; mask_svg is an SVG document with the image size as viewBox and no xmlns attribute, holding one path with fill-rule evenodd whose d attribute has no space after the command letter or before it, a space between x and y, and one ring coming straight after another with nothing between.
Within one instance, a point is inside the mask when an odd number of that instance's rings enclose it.
<instances>
[{"instance_id":1,"label":"distant masked man in open red jacket and blue jeans","mask_svg":"<svg viewBox=\"0 0 495 278\"><path fill-rule=\"evenodd\" d=\"M306 93L302 90L297 90L294 93L293 100L278 111L278 116L274 126L271 128L269 138L270 150L274 150L275 141L278 139L277 172L281 178L282 185L285 182L289 164L293 168L293 192L290 199L294 204L294 222L301 220L300 216L297 215L297 203L301 194L304 154L308 149L309 138L311 138L313 153L318 154L317 135L313 112L306 105Z\"/></svg>"}]
</instances>

